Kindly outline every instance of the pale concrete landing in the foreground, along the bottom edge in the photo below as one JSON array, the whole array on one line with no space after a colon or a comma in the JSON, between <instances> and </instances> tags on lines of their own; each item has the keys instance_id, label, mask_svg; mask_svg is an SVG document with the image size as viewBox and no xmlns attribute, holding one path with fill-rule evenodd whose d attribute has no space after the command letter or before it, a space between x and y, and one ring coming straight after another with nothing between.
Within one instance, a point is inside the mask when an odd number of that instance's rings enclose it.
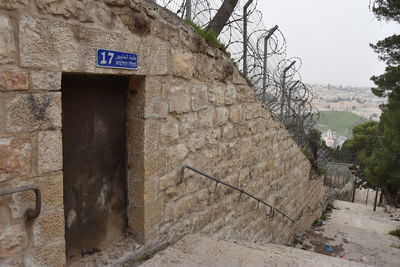
<instances>
[{"instance_id":1,"label":"pale concrete landing in the foreground, along the bottom edge","mask_svg":"<svg viewBox=\"0 0 400 267\"><path fill-rule=\"evenodd\" d=\"M141 267L168 266L366 266L281 245L259 245L188 235Z\"/></svg>"}]
</instances>

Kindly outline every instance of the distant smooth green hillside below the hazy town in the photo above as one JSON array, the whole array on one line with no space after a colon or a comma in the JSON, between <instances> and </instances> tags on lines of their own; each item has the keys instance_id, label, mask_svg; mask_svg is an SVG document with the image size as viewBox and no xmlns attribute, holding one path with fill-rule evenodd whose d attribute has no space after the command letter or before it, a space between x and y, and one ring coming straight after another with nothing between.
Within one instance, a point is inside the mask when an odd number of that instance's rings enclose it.
<instances>
[{"instance_id":1,"label":"distant smooth green hillside below the hazy town","mask_svg":"<svg viewBox=\"0 0 400 267\"><path fill-rule=\"evenodd\" d=\"M351 137L353 128L368 120L349 111L321 111L316 128L321 131L331 129L338 135Z\"/></svg>"}]
</instances>

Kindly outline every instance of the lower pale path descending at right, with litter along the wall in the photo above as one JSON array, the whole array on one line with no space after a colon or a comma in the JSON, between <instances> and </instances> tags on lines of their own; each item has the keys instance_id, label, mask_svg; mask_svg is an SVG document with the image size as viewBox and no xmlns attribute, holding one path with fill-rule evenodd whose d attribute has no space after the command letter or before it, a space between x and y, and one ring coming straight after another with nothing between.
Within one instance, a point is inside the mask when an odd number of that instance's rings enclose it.
<instances>
[{"instance_id":1,"label":"lower pale path descending at right, with litter along the wall","mask_svg":"<svg viewBox=\"0 0 400 267\"><path fill-rule=\"evenodd\" d=\"M374 266L400 266L400 239L388 234L399 229L384 208L335 201L323 225L307 231L296 245L308 251Z\"/></svg>"}]
</instances>

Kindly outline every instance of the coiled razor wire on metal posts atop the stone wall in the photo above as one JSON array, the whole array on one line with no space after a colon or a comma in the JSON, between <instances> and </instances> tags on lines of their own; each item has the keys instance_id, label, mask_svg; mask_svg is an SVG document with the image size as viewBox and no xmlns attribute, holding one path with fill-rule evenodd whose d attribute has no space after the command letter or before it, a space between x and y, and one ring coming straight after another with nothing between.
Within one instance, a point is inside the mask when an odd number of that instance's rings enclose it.
<instances>
[{"instance_id":1,"label":"coiled razor wire on metal posts atop the stone wall","mask_svg":"<svg viewBox=\"0 0 400 267\"><path fill-rule=\"evenodd\" d=\"M182 19L207 28L223 0L157 0ZM232 61L253 86L257 98L278 118L300 146L316 124L311 87L302 82L302 61L287 56L287 42L278 26L267 28L259 0L239 0L219 34ZM246 11L246 12L245 12ZM188 13L189 12L189 13ZM246 25L246 27L245 27ZM245 34L246 33L246 34Z\"/></svg>"}]
</instances>

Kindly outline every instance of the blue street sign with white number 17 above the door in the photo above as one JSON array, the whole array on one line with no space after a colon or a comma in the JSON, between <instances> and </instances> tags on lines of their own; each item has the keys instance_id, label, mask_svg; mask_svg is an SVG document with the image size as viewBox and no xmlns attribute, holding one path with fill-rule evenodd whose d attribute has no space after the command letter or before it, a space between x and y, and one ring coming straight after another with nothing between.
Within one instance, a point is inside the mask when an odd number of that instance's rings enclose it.
<instances>
[{"instance_id":1,"label":"blue street sign with white number 17 above the door","mask_svg":"<svg viewBox=\"0 0 400 267\"><path fill-rule=\"evenodd\" d=\"M102 68L117 68L136 70L138 55L120 51L97 49L96 66Z\"/></svg>"}]
</instances>

